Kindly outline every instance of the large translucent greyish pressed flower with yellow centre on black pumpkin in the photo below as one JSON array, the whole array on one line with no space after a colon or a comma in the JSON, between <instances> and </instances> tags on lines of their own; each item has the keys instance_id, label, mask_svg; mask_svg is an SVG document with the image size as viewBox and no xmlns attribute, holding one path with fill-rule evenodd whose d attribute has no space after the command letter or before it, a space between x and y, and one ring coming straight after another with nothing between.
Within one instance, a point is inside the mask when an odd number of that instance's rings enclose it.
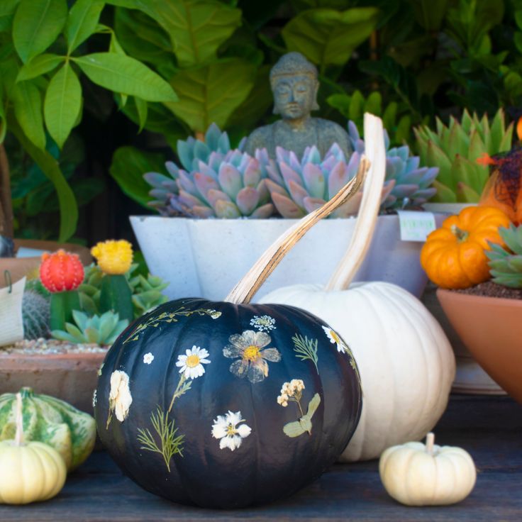
<instances>
[{"instance_id":1,"label":"large translucent greyish pressed flower with yellow centre on black pumpkin","mask_svg":"<svg viewBox=\"0 0 522 522\"><path fill-rule=\"evenodd\" d=\"M266 332L245 330L231 335L228 342L230 344L223 348L223 355L229 359L238 358L231 364L230 371L241 379L248 377L252 384L261 382L268 376L267 361L281 360L277 348L265 348L272 342Z\"/></svg>"}]
</instances>

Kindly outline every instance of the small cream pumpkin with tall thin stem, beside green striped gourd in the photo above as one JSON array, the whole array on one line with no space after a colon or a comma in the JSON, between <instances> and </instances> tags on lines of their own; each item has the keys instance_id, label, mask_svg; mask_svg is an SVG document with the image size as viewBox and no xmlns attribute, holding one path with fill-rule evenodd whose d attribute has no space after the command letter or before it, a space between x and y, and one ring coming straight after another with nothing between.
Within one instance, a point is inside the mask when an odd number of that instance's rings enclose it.
<instances>
[{"instance_id":1,"label":"small cream pumpkin with tall thin stem, beside green striped gourd","mask_svg":"<svg viewBox=\"0 0 522 522\"><path fill-rule=\"evenodd\" d=\"M51 499L65 484L67 468L54 448L23 443L22 397L16 396L16 436L0 442L0 504Z\"/></svg>"}]
</instances>

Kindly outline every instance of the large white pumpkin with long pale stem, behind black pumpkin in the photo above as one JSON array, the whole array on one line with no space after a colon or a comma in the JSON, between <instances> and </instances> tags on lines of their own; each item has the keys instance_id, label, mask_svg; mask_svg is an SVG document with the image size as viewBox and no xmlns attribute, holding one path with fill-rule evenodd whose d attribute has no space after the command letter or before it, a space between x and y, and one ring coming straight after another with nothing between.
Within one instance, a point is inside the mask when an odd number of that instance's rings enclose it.
<instances>
[{"instance_id":1,"label":"large white pumpkin with long pale stem, behind black pumpkin","mask_svg":"<svg viewBox=\"0 0 522 522\"><path fill-rule=\"evenodd\" d=\"M445 410L455 376L450 343L418 299L384 282L349 286L370 246L384 182L382 128L380 135L370 135L369 121L365 118L366 143L373 150L367 152L376 161L367 174L350 247L333 279L326 288L294 285L260 301L310 311L350 346L362 382L362 415L342 462L377 458L390 445L423 437Z\"/></svg>"}]
</instances>

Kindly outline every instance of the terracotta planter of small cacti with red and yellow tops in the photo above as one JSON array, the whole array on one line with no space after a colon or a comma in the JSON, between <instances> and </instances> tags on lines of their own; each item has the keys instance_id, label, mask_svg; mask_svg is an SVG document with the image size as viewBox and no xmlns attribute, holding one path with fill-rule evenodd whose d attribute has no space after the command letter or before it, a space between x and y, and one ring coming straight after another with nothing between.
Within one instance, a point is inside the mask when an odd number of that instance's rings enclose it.
<instances>
[{"instance_id":1,"label":"terracotta planter of small cacti with red and yellow tops","mask_svg":"<svg viewBox=\"0 0 522 522\"><path fill-rule=\"evenodd\" d=\"M127 241L99 243L91 253L97 264L86 267L64 250L43 255L39 277L23 292L23 340L0 349L0 393L30 385L91 411L109 345L167 301L167 283L136 273Z\"/></svg>"}]
</instances>

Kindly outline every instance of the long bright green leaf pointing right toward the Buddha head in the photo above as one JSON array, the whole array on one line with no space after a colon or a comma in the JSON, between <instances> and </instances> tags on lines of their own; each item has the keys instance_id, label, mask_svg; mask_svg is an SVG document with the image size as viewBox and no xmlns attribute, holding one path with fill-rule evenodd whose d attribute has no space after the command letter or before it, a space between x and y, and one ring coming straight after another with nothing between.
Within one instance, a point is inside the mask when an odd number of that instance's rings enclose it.
<instances>
[{"instance_id":1,"label":"long bright green leaf pointing right toward the Buddha head","mask_svg":"<svg viewBox=\"0 0 522 522\"><path fill-rule=\"evenodd\" d=\"M176 93L159 74L130 56L94 52L72 58L95 84L146 101L177 101Z\"/></svg>"}]
</instances>

